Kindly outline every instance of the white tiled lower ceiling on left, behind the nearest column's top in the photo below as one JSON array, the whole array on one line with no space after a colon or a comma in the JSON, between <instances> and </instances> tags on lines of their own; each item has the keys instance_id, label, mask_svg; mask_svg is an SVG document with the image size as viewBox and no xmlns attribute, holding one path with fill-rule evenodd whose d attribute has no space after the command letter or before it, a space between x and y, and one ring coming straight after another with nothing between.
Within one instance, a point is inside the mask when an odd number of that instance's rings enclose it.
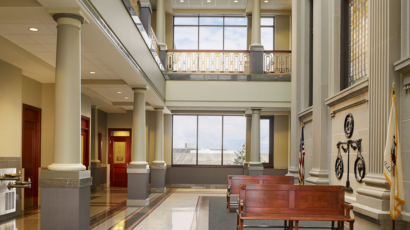
<instances>
[{"instance_id":1,"label":"white tiled lower ceiling on left, behind the nearest column's top","mask_svg":"<svg viewBox=\"0 0 410 230\"><path fill-rule=\"evenodd\" d=\"M0 35L55 67L57 23L41 20L1 20ZM36 28L39 31L30 31ZM96 72L90 74L90 72ZM81 79L121 79L96 54L81 44Z\"/></svg>"}]
</instances>

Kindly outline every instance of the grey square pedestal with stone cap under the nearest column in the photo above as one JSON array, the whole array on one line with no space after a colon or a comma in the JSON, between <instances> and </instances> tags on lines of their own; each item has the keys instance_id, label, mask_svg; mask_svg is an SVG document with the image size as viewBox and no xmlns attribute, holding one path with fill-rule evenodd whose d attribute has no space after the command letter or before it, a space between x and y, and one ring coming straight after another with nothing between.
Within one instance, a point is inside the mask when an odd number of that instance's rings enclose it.
<instances>
[{"instance_id":1,"label":"grey square pedestal with stone cap under the nearest column","mask_svg":"<svg viewBox=\"0 0 410 230\"><path fill-rule=\"evenodd\" d=\"M41 230L90 229L90 176L89 170L41 172Z\"/></svg>"}]
</instances>

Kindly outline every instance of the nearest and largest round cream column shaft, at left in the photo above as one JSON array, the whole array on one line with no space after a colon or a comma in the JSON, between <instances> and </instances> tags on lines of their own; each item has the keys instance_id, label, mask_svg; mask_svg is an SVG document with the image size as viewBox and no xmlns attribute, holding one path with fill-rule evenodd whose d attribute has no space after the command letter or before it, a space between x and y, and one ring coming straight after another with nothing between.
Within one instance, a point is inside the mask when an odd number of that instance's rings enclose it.
<instances>
[{"instance_id":1,"label":"nearest and largest round cream column shaft, at left","mask_svg":"<svg viewBox=\"0 0 410 230\"><path fill-rule=\"evenodd\" d=\"M80 31L84 18L69 13L57 21L53 161L50 171L84 171L81 164Z\"/></svg>"}]
</instances>

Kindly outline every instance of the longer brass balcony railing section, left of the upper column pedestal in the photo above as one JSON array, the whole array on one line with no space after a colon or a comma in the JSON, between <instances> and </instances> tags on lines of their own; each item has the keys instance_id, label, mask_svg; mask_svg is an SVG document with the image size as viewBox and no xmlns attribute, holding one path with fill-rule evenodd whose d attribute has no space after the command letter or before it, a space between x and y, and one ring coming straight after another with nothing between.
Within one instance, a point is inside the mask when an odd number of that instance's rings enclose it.
<instances>
[{"instance_id":1,"label":"longer brass balcony railing section, left of the upper column pedestal","mask_svg":"<svg viewBox=\"0 0 410 230\"><path fill-rule=\"evenodd\" d=\"M168 72L249 73L248 50L168 50Z\"/></svg>"}]
</instances>

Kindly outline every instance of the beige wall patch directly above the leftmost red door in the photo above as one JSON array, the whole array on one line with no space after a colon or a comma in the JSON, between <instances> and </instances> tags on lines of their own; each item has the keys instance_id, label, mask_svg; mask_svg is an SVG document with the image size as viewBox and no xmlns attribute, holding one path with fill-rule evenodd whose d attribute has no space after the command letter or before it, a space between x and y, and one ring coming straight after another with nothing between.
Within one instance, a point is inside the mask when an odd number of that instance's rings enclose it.
<instances>
[{"instance_id":1,"label":"beige wall patch directly above the leftmost red door","mask_svg":"<svg viewBox=\"0 0 410 230\"><path fill-rule=\"evenodd\" d=\"M22 76L21 100L24 104L41 108L41 82Z\"/></svg>"}]
</instances>

